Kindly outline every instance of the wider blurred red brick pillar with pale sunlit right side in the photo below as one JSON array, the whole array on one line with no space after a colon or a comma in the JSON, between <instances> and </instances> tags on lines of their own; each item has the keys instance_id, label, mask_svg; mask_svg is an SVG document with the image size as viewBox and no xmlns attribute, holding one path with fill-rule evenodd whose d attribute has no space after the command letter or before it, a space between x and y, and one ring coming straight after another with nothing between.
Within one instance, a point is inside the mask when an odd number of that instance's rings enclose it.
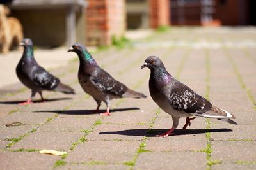
<instances>
[{"instance_id":1,"label":"wider blurred red brick pillar with pale sunlit right side","mask_svg":"<svg viewBox=\"0 0 256 170\"><path fill-rule=\"evenodd\" d=\"M86 45L111 45L125 31L125 0L88 0Z\"/></svg>"}]
</instances>

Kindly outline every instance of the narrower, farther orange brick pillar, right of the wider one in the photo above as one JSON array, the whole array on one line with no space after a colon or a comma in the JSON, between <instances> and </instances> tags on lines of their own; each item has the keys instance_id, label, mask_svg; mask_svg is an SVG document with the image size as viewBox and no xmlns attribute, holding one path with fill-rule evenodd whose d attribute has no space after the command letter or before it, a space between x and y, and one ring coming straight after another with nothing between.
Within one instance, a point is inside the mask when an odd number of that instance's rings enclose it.
<instances>
[{"instance_id":1,"label":"narrower, farther orange brick pillar, right of the wider one","mask_svg":"<svg viewBox=\"0 0 256 170\"><path fill-rule=\"evenodd\" d=\"M150 27L156 28L160 25L170 25L170 1L150 0Z\"/></svg>"}]
</instances>

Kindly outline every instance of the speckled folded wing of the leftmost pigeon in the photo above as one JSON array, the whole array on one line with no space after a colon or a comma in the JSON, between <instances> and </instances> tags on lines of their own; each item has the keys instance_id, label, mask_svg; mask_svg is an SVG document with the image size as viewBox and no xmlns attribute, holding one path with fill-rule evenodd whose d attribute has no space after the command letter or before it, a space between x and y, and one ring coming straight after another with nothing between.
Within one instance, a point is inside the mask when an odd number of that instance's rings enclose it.
<instances>
[{"instance_id":1,"label":"speckled folded wing of the leftmost pigeon","mask_svg":"<svg viewBox=\"0 0 256 170\"><path fill-rule=\"evenodd\" d=\"M34 83L38 87L46 90L53 90L60 83L60 80L58 78L48 73L47 71L45 71L44 68L40 66L37 66L36 69L33 71L32 78Z\"/></svg>"}]
</instances>

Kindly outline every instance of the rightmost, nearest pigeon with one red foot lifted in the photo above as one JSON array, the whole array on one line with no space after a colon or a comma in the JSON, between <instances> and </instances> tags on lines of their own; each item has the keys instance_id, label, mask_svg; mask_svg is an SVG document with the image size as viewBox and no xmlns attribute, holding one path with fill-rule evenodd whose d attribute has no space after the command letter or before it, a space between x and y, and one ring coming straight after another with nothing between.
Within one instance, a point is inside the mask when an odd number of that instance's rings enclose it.
<instances>
[{"instance_id":1,"label":"rightmost, nearest pigeon with one red foot lifted","mask_svg":"<svg viewBox=\"0 0 256 170\"><path fill-rule=\"evenodd\" d=\"M186 117L186 124L183 129L191 125L190 120L195 118L189 118L191 116L216 118L230 124L237 124L230 120L230 118L235 118L234 115L212 105L207 99L196 94L188 86L173 78L166 71L163 62L158 57L147 57L141 69L145 67L150 69L150 96L162 110L171 115L173 120L172 128L157 136L164 138L172 134L172 131L179 125L181 117Z\"/></svg>"}]
</instances>

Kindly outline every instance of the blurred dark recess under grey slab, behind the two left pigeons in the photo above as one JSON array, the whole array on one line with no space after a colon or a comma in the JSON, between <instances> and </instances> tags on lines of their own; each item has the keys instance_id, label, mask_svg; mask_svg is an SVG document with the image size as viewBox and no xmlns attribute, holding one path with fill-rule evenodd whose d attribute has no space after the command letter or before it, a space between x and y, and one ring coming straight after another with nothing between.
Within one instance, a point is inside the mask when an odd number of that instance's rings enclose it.
<instances>
[{"instance_id":1,"label":"blurred dark recess under grey slab, behind the two left pigeons","mask_svg":"<svg viewBox=\"0 0 256 170\"><path fill-rule=\"evenodd\" d=\"M84 8L82 0L13 0L8 3L12 15L19 18L24 36L35 45L70 46L84 43Z\"/></svg>"}]
</instances>

